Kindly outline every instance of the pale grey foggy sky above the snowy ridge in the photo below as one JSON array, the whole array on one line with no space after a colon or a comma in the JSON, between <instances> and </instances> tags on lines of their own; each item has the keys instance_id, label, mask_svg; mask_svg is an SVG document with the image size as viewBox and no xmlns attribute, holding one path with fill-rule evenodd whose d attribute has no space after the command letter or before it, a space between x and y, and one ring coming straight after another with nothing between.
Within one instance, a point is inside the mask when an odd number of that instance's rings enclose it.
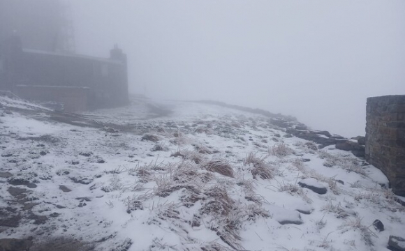
<instances>
[{"instance_id":1,"label":"pale grey foggy sky above the snowy ridge","mask_svg":"<svg viewBox=\"0 0 405 251\"><path fill-rule=\"evenodd\" d=\"M130 91L219 100L364 135L366 98L405 94L405 1L75 0L78 53L128 54Z\"/></svg>"}]
</instances>

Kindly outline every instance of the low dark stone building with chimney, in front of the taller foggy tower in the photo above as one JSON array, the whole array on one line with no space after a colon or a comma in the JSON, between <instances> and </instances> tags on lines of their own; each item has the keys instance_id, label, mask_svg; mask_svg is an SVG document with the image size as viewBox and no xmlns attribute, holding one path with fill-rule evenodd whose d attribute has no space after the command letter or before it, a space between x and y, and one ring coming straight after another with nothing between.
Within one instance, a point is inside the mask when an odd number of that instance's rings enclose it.
<instances>
[{"instance_id":1,"label":"low dark stone building with chimney, in front of the taller foggy tower","mask_svg":"<svg viewBox=\"0 0 405 251\"><path fill-rule=\"evenodd\" d=\"M0 90L22 98L58 102L66 112L128 102L126 55L116 46L110 58L24 49L12 36L0 52Z\"/></svg>"}]
</instances>

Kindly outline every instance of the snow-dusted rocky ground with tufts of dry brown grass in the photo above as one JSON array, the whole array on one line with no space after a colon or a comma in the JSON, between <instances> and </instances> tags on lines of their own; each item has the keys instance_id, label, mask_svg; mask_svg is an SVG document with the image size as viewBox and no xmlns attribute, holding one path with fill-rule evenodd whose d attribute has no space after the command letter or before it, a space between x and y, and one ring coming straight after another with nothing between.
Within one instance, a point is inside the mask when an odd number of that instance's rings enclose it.
<instances>
[{"instance_id":1,"label":"snow-dusted rocky ground with tufts of dry brown grass","mask_svg":"<svg viewBox=\"0 0 405 251\"><path fill-rule=\"evenodd\" d=\"M0 236L32 236L31 250L64 237L87 250L381 251L404 235L378 169L285 131L195 102L57 114L0 96Z\"/></svg>"}]
</instances>

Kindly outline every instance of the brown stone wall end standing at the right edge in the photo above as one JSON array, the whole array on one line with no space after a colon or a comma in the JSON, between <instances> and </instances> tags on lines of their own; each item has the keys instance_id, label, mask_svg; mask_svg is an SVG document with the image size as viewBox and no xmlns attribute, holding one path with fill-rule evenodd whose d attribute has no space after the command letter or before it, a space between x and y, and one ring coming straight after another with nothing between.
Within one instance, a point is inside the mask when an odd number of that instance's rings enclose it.
<instances>
[{"instance_id":1,"label":"brown stone wall end standing at the right edge","mask_svg":"<svg viewBox=\"0 0 405 251\"><path fill-rule=\"evenodd\" d=\"M405 95L367 98L366 160L405 196Z\"/></svg>"}]
</instances>

